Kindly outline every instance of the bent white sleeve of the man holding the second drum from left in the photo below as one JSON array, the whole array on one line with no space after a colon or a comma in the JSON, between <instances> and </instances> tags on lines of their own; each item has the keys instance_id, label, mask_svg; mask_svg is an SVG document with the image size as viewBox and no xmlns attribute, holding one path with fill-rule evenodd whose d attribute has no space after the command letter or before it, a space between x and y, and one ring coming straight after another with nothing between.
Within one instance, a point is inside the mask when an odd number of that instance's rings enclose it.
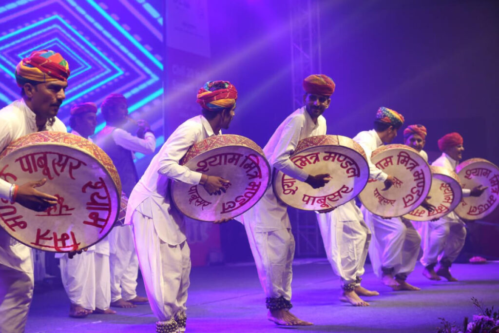
<instances>
[{"instance_id":1,"label":"bent white sleeve of the man holding the second drum from left","mask_svg":"<svg viewBox=\"0 0 499 333\"><path fill-rule=\"evenodd\" d=\"M177 128L159 152L158 173L187 184L199 184L202 174L179 164L196 141L196 133L192 127L181 125Z\"/></svg>"}]
</instances>

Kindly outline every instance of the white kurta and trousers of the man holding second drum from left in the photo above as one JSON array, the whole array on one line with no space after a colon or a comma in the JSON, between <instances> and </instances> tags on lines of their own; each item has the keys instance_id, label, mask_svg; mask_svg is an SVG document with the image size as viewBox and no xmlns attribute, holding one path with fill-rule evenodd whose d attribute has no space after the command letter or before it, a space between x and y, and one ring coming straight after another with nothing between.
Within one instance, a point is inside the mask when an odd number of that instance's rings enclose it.
<instances>
[{"instance_id":1,"label":"white kurta and trousers of the man holding second drum from left","mask_svg":"<svg viewBox=\"0 0 499 333\"><path fill-rule=\"evenodd\" d=\"M154 156L128 199L125 224L133 225L147 297L160 321L185 312L191 270L184 215L170 202L168 181L199 184L202 174L179 161L189 147L212 135L210 123L202 115L181 124Z\"/></svg>"}]
</instances>

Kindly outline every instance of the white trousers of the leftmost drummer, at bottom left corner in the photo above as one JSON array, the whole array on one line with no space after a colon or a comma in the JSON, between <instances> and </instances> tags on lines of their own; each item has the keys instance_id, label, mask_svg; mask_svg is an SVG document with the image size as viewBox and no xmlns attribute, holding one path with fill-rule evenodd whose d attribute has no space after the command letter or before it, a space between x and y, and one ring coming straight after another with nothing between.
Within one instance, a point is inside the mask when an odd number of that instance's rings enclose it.
<instances>
[{"instance_id":1,"label":"white trousers of the leftmost drummer, at bottom left corner","mask_svg":"<svg viewBox=\"0 0 499 333\"><path fill-rule=\"evenodd\" d=\"M33 298L33 273L0 264L0 332L24 332Z\"/></svg>"}]
</instances>

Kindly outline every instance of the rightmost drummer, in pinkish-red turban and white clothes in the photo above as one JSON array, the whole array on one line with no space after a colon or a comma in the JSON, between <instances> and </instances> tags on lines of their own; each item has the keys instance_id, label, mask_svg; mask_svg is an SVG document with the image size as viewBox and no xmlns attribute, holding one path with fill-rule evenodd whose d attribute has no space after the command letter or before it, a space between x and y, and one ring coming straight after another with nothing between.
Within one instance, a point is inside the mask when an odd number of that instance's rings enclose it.
<instances>
[{"instance_id":1,"label":"rightmost drummer, in pinkish-red turban and white clothes","mask_svg":"<svg viewBox=\"0 0 499 333\"><path fill-rule=\"evenodd\" d=\"M442 155L432 165L441 166L447 170L456 171L459 161L463 158L463 137L456 132L444 135L438 140L438 147ZM463 197L479 197L487 189L481 185L474 189L463 189ZM430 280L458 281L452 276L450 267L456 260L465 245L465 223L456 213L441 217L437 221L428 221L423 224L423 257L421 264L425 267L423 275ZM439 268L435 272L435 266Z\"/></svg>"}]
</instances>

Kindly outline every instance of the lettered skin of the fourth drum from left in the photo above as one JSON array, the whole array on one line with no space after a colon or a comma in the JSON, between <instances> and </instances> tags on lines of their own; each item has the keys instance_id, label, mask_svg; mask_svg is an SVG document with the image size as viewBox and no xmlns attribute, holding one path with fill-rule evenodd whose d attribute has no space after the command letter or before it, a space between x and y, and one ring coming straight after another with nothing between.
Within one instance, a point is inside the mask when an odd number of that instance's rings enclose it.
<instances>
[{"instance_id":1,"label":"lettered skin of the fourth drum from left","mask_svg":"<svg viewBox=\"0 0 499 333\"><path fill-rule=\"evenodd\" d=\"M371 162L396 182L384 190L384 182L369 179L359 198L371 213L397 217L413 211L425 200L432 184L430 166L419 153L403 144L390 144L374 150Z\"/></svg>"}]
</instances>

